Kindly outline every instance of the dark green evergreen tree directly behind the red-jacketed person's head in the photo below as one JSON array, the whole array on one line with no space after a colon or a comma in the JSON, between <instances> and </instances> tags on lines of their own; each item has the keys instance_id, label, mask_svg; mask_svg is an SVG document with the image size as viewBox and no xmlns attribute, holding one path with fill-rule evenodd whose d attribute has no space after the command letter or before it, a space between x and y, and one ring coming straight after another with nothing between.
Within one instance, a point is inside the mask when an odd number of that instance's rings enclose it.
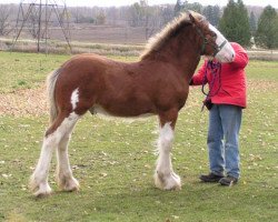
<instances>
[{"instance_id":1,"label":"dark green evergreen tree directly behind the red-jacketed person's head","mask_svg":"<svg viewBox=\"0 0 278 222\"><path fill-rule=\"evenodd\" d=\"M219 30L229 41L249 46L251 33L248 12L241 0L238 0L237 3L229 0L219 21Z\"/></svg>"}]
</instances>

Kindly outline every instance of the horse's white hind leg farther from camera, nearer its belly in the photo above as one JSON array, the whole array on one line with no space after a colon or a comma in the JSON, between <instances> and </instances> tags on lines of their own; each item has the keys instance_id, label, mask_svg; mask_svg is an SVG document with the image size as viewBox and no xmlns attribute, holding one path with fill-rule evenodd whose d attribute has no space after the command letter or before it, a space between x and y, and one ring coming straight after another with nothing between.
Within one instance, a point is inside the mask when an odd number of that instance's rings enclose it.
<instances>
[{"instance_id":1,"label":"horse's white hind leg farther from camera, nearer its belly","mask_svg":"<svg viewBox=\"0 0 278 222\"><path fill-rule=\"evenodd\" d=\"M71 122L68 124L68 129L64 132L57 150L57 182L64 191L76 191L79 189L79 183L72 175L68 157L68 143L78 119L79 117L77 114L71 117Z\"/></svg>"}]
</instances>

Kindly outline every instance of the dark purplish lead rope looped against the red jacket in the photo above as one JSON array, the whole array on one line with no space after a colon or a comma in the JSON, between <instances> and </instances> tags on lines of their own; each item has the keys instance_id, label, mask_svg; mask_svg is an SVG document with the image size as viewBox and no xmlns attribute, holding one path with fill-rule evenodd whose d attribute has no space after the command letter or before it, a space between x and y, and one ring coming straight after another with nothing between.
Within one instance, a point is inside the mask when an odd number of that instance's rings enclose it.
<instances>
[{"instance_id":1,"label":"dark purplish lead rope looped against the red jacket","mask_svg":"<svg viewBox=\"0 0 278 222\"><path fill-rule=\"evenodd\" d=\"M212 62L212 61L208 61L207 62L207 65L206 65L206 71L205 71L205 75L203 75L203 79L202 79L202 84L201 84L201 92L202 94L206 95L206 99L205 99L205 102L202 103L202 107L201 107L201 111L203 110L205 108L205 104L206 104L206 101L211 98L211 97L215 97L220 88L221 88L221 63L220 62ZM211 75L212 75L212 80L211 80L211 84L210 84L210 89L208 92L205 91L205 85L206 83L208 82L208 70L211 70ZM215 93L211 94L211 91L214 89L214 85L215 85L215 82L216 82L216 79L218 77L218 89L215 91Z\"/></svg>"}]
</instances>

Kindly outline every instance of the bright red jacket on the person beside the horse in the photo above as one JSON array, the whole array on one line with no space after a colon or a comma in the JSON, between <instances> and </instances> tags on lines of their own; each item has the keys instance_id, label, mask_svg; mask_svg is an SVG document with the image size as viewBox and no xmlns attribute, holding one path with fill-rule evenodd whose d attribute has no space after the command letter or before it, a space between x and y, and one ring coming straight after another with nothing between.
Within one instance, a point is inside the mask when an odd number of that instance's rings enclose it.
<instances>
[{"instance_id":1,"label":"bright red jacket on the person beside the horse","mask_svg":"<svg viewBox=\"0 0 278 222\"><path fill-rule=\"evenodd\" d=\"M211 73L211 68L206 68L208 61L205 61L199 71L192 77L191 84L209 84L209 97L215 104L235 104L246 108L246 73L245 67L248 63L246 50L238 43L231 42L235 50L235 60L230 63L221 64L219 74ZM220 79L219 79L220 78Z\"/></svg>"}]
</instances>

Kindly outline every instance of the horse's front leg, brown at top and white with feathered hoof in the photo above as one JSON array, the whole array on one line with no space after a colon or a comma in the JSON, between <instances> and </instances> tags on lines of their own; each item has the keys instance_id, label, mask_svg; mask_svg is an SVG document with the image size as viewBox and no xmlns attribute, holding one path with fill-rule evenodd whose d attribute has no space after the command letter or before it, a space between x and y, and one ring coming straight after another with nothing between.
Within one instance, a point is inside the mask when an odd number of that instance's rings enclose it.
<instances>
[{"instance_id":1,"label":"horse's front leg, brown at top and white with feathered hoof","mask_svg":"<svg viewBox=\"0 0 278 222\"><path fill-rule=\"evenodd\" d=\"M161 190L180 190L181 182L179 175L172 170L171 149L173 142L173 129L177 121L178 111L170 111L159 115L160 132L158 140L159 157L155 172L155 184Z\"/></svg>"}]
</instances>

